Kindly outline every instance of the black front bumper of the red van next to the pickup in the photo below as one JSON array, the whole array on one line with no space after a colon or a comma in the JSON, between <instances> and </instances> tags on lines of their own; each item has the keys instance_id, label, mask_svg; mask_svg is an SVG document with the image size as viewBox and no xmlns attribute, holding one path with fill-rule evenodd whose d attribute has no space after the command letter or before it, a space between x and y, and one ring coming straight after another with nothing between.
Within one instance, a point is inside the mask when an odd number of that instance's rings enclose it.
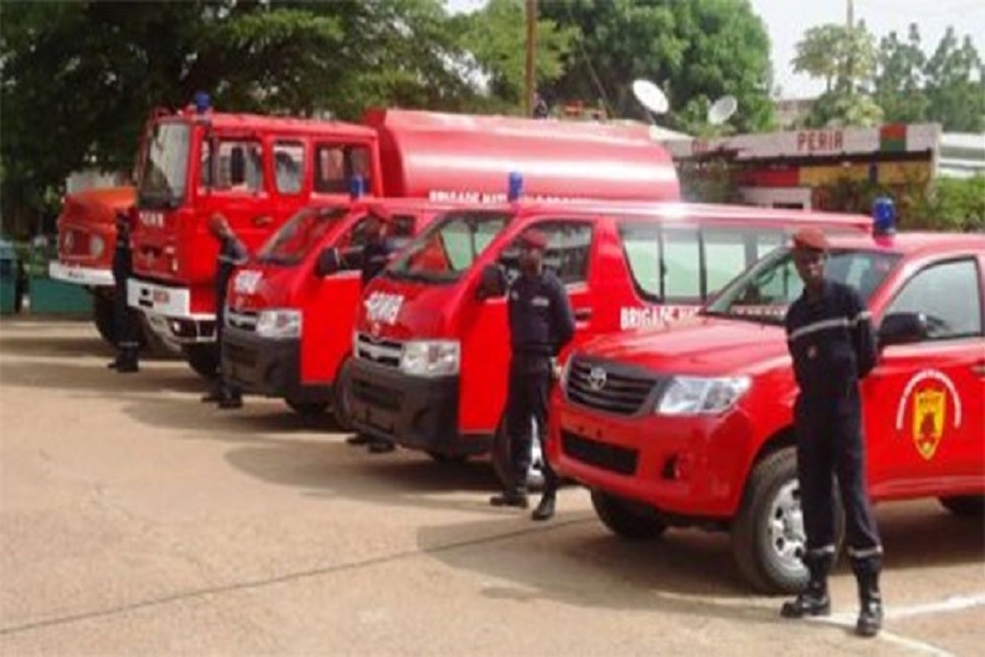
<instances>
[{"instance_id":1,"label":"black front bumper of the red van next to the pickup","mask_svg":"<svg viewBox=\"0 0 985 657\"><path fill-rule=\"evenodd\" d=\"M349 403L357 430L448 457L489 451L490 436L459 434L459 377L409 377L385 365L352 361Z\"/></svg>"}]
</instances>

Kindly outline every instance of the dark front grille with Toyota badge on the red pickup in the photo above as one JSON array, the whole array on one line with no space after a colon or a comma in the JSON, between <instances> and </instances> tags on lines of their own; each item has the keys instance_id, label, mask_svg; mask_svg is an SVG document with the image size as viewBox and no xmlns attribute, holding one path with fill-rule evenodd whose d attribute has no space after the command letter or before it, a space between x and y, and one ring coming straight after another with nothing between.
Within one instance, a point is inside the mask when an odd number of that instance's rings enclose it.
<instances>
[{"instance_id":1,"label":"dark front grille with Toyota badge on the red pickup","mask_svg":"<svg viewBox=\"0 0 985 657\"><path fill-rule=\"evenodd\" d=\"M567 393L576 404L633 415L648 401L661 379L610 362L575 358L568 370Z\"/></svg>"}]
</instances>

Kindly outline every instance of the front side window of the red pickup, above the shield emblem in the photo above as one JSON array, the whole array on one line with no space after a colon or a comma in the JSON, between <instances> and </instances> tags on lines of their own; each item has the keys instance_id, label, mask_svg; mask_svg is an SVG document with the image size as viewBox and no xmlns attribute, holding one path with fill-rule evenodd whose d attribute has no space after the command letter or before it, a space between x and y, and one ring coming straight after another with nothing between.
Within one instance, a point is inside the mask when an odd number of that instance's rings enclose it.
<instances>
[{"instance_id":1,"label":"front side window of the red pickup, above the shield emblem","mask_svg":"<svg viewBox=\"0 0 985 657\"><path fill-rule=\"evenodd\" d=\"M924 313L930 339L982 335L982 290L975 261L922 269L906 281L887 312Z\"/></svg>"}]
</instances>

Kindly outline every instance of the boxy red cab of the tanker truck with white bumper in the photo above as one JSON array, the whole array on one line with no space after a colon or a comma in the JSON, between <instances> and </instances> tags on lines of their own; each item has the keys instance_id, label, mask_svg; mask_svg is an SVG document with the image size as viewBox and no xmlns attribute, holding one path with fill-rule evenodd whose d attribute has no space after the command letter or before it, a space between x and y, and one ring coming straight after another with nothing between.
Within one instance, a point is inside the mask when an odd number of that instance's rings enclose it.
<instances>
[{"instance_id":1,"label":"boxy red cab of the tanker truck with white bumper","mask_svg":"<svg viewBox=\"0 0 985 657\"><path fill-rule=\"evenodd\" d=\"M352 180L382 189L375 130L341 122L198 106L157 118L143 158L128 303L206 376L218 365L208 218L222 214L253 251L310 203L348 200Z\"/></svg>"}]
</instances>

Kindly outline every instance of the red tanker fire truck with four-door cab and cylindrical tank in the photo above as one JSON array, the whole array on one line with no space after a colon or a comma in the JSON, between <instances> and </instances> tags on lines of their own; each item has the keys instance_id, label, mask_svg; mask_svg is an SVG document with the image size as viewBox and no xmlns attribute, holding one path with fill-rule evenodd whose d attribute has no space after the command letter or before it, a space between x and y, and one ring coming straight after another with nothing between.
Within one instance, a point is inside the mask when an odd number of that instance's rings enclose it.
<instances>
[{"instance_id":1,"label":"red tanker fire truck with four-door cab and cylindrical tank","mask_svg":"<svg viewBox=\"0 0 985 657\"><path fill-rule=\"evenodd\" d=\"M502 199L523 174L532 195L676 198L670 158L647 126L371 111L366 125L185 112L159 118L146 148L128 302L211 373L221 211L255 250L311 201L371 196Z\"/></svg>"}]
</instances>

